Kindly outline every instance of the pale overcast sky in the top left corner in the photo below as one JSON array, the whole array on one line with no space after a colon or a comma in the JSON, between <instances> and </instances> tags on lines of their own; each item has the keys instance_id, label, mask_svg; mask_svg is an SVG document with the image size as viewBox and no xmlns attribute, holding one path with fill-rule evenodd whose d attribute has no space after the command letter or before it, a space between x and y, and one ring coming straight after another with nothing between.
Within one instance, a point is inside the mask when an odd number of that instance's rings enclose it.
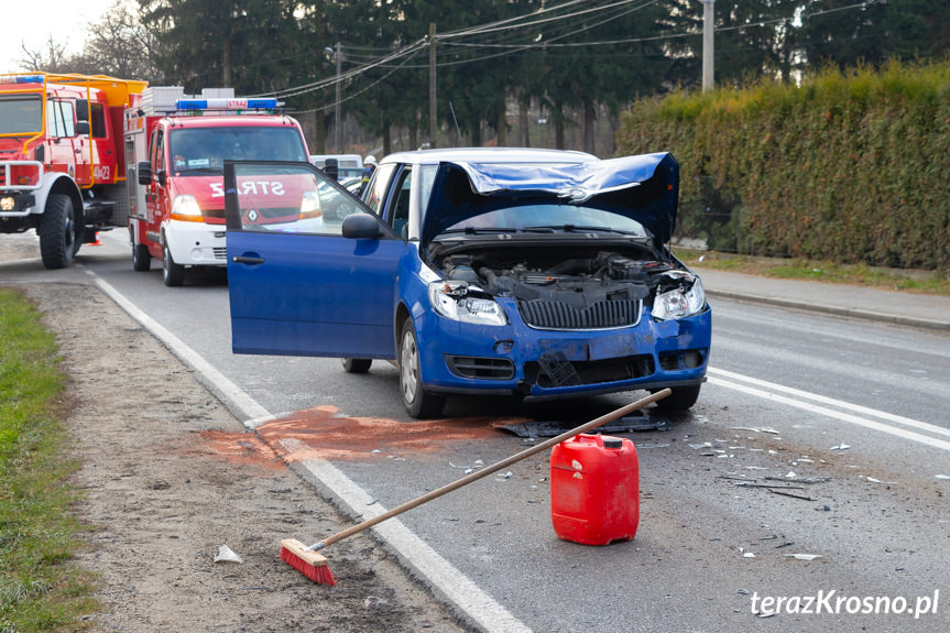
<instances>
[{"instance_id":1,"label":"pale overcast sky in the top left corner","mask_svg":"<svg viewBox=\"0 0 950 633\"><path fill-rule=\"evenodd\" d=\"M79 53L86 41L86 24L98 22L114 0L3 0L3 36L0 37L0 73L19 73L21 43L31 51L44 50L50 35Z\"/></svg>"}]
</instances>

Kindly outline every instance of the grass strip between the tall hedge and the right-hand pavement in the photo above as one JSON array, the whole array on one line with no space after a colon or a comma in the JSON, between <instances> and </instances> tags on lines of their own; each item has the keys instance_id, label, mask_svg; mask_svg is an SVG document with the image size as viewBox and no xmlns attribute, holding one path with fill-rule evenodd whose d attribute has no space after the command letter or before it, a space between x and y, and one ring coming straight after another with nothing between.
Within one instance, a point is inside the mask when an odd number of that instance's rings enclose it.
<instances>
[{"instance_id":1,"label":"grass strip between the tall hedge and the right-hand pavement","mask_svg":"<svg viewBox=\"0 0 950 633\"><path fill-rule=\"evenodd\" d=\"M878 269L864 264L838 264L806 259L757 258L716 251L674 250L676 257L690 268L950 296L950 279L931 271Z\"/></svg>"}]
</instances>

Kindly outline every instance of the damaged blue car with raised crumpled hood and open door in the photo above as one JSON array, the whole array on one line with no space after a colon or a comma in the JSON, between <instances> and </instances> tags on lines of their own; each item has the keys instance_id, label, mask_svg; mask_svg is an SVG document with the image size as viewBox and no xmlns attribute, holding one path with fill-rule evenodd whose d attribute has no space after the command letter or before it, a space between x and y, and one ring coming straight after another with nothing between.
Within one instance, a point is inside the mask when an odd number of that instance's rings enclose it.
<instances>
[{"instance_id":1,"label":"damaged blue car with raised crumpled hood and open door","mask_svg":"<svg viewBox=\"0 0 950 633\"><path fill-rule=\"evenodd\" d=\"M414 417L451 394L696 403L712 320L666 247L671 154L396 153L362 200L306 164L236 162L225 189L237 353L389 360Z\"/></svg>"}]
</instances>

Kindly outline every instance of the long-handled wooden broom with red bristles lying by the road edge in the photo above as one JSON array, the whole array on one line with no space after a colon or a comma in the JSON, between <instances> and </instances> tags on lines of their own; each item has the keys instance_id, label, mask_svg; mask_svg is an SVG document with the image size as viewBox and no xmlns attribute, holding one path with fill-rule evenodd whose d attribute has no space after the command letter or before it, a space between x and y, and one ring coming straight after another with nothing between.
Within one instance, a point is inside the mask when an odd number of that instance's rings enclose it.
<instances>
[{"instance_id":1,"label":"long-handled wooden broom with red bristles lying by the road edge","mask_svg":"<svg viewBox=\"0 0 950 633\"><path fill-rule=\"evenodd\" d=\"M287 565L290 565L291 567L293 567L294 569L296 569L297 571L299 571L301 574L303 574L304 576L306 576L307 578L309 578L314 582L316 582L318 585L334 586L337 583L337 581L334 579L334 575L330 572L330 567L329 567L329 564L327 561L327 558L320 554L317 554L318 549L323 549L324 547L327 547L328 545L332 545L334 543L337 543L338 541L342 541L347 536L352 536L353 534L357 534L358 532L362 532L363 530L367 530L368 527L372 527L376 523L382 523L386 519L392 519L393 516L395 516L397 514L402 514L406 510L412 510L413 508L416 508L417 505L422 505L423 503L426 503L427 501L432 501L433 499L441 496L443 494L446 494L447 492L451 492L452 490L457 490L457 489L461 488L462 485L467 485L467 484L471 483L472 481L476 481L477 479L488 477L492 472L496 472L496 471L501 470L502 468L511 466L512 463L514 463L516 461L521 461L522 459L531 457L532 455L540 452L542 450L546 450L546 449L548 449L548 448L550 448L557 444L560 444L561 441L570 439L571 437L574 437L576 435L580 435L581 433L588 432L592 428L597 428L598 426L601 426L602 424L607 424L608 422L616 419L618 417L623 417L624 415L626 415L633 411L636 411L638 408L643 408L647 404L651 404L653 402L656 402L657 400L664 399L669 394L670 394L670 391L668 389L664 389L664 390L658 391L654 394L651 394L644 399L641 399L636 402L633 402L631 404L622 406L615 411L612 411L611 413L604 414L604 415L602 415L596 419L592 419L586 424L582 424L582 425L578 426L577 428L565 432L565 433L558 435L557 437L553 437L550 439L547 439L547 440L545 440L545 441L543 441L536 446L533 446L531 448L522 450L521 452L513 455L513 456L509 457L507 459L503 459L496 463L493 463L487 468L483 468L483 469L479 470L478 472L472 472L471 474L462 477L461 479L454 481L452 483L448 483L446 485L443 485L441 488L437 488L436 490L433 490L432 492L427 492L426 494L423 494L422 496L413 499L412 501L406 501L402 505L397 505L396 508L393 508L390 511L383 512L382 514L378 514L376 516L373 516L372 519L367 519L362 523L353 525L352 527L348 527L347 530L343 530L341 532L337 532L336 534L328 536L328 537L324 538L323 541L314 543L309 547L305 546L303 543L301 543L296 538L284 538L283 541L281 541L281 558Z\"/></svg>"}]
</instances>

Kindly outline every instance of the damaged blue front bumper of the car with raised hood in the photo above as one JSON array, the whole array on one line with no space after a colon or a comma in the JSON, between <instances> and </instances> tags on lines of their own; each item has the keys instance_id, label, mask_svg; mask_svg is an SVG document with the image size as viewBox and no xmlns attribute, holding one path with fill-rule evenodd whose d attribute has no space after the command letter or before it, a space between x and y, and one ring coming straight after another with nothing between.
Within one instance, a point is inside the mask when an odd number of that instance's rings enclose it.
<instances>
[{"instance_id":1,"label":"damaged blue front bumper of the car with raised hood","mask_svg":"<svg viewBox=\"0 0 950 633\"><path fill-rule=\"evenodd\" d=\"M426 389L440 393L518 394L525 400L689 386L706 380L712 313L635 326L542 330L500 302L511 324L481 326L426 315L417 321ZM507 305L506 305L507 304Z\"/></svg>"}]
</instances>

